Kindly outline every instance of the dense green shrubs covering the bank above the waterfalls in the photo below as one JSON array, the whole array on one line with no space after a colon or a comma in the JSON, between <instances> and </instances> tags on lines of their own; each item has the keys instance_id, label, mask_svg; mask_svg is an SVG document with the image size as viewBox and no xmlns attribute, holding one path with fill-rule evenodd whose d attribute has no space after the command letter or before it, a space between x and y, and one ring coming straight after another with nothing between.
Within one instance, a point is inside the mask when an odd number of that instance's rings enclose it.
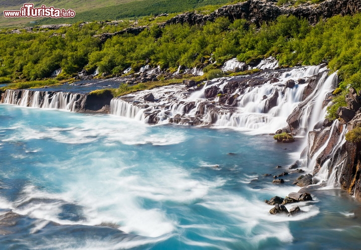
<instances>
[{"instance_id":1,"label":"dense green shrubs covering the bank above the waterfalls","mask_svg":"<svg viewBox=\"0 0 361 250\"><path fill-rule=\"evenodd\" d=\"M222 75L217 68L232 57L252 63L273 55L282 65L326 62L332 71L338 70L341 84L334 99L336 105L329 109L332 119L336 118L337 105L344 105L345 89L361 89L361 14L334 16L314 26L294 16L280 16L260 28L246 20L230 22L224 17L203 26L174 24L160 28L153 19L142 19L148 21L149 29L139 35L117 35L104 43L94 35L114 32L131 23L76 23L56 31L1 33L0 79L37 80L49 77L60 67L63 71L58 80L82 68L93 72L98 67L100 73L121 75L129 66L137 71L146 63L170 72L178 65L203 67L212 78Z\"/></svg>"}]
</instances>

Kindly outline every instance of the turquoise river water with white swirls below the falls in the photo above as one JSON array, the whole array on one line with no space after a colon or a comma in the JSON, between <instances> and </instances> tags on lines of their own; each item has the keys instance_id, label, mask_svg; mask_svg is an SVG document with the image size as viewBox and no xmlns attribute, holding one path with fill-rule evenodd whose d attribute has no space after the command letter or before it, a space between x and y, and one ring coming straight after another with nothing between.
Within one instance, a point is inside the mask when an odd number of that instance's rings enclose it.
<instances>
[{"instance_id":1,"label":"turquoise river water with white swirls below the falls","mask_svg":"<svg viewBox=\"0 0 361 250\"><path fill-rule=\"evenodd\" d=\"M264 174L300 145L2 104L0 248L358 249L361 206L339 189L269 214L265 199L299 187Z\"/></svg>"}]
</instances>

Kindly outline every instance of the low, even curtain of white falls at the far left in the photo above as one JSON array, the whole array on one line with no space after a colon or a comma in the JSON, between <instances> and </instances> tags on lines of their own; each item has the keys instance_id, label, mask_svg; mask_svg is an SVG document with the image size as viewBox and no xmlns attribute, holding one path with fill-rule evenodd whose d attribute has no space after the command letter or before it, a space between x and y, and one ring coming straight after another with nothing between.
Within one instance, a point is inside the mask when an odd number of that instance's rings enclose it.
<instances>
[{"instance_id":1,"label":"low, even curtain of white falls at the far left","mask_svg":"<svg viewBox=\"0 0 361 250\"><path fill-rule=\"evenodd\" d=\"M4 103L38 108L58 108L76 111L85 96L70 92L7 89Z\"/></svg>"}]
</instances>

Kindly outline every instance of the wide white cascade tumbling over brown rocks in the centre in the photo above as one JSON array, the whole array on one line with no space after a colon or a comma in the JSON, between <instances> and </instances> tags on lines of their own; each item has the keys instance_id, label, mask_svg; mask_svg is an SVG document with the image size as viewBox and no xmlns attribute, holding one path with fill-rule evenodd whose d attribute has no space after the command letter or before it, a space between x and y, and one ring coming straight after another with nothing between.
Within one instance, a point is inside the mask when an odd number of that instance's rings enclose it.
<instances>
[{"instance_id":1,"label":"wide white cascade tumbling over brown rocks in the centre","mask_svg":"<svg viewBox=\"0 0 361 250\"><path fill-rule=\"evenodd\" d=\"M268 61L271 62L274 63ZM302 101L307 80L311 82L315 74L321 75L316 88ZM336 77L336 73L328 76L328 70L319 65L264 70L256 75L213 79L203 87L191 89L182 84L158 87L152 92L154 101L144 100L150 90L138 91L113 99L110 112L148 123L214 124L273 133L287 126L287 117L305 103L301 123L313 128L324 118L322 101L332 90ZM216 92L207 99L213 89ZM221 103L223 96L234 96L233 103Z\"/></svg>"}]
</instances>

